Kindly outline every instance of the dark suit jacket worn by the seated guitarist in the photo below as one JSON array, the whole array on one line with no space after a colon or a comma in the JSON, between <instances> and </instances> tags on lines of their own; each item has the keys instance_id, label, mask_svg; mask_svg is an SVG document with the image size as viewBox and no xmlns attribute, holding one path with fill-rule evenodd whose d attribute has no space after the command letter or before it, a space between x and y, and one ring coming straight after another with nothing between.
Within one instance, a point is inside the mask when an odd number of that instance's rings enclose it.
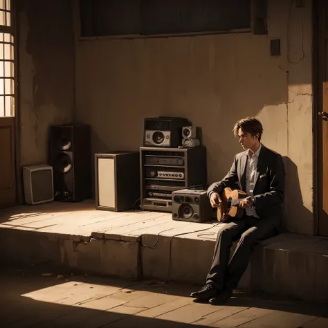
<instances>
[{"instance_id":1,"label":"dark suit jacket worn by the seated guitarist","mask_svg":"<svg viewBox=\"0 0 328 328\"><path fill-rule=\"evenodd\" d=\"M233 165L228 174L219 182L212 183L208 188L210 192L221 193L230 187L234 189L236 183L245 191L246 186L247 151L235 156ZM284 202L285 170L282 156L262 145L257 161L255 173L255 210L260 219L268 216L282 217L281 204Z\"/></svg>"}]
</instances>

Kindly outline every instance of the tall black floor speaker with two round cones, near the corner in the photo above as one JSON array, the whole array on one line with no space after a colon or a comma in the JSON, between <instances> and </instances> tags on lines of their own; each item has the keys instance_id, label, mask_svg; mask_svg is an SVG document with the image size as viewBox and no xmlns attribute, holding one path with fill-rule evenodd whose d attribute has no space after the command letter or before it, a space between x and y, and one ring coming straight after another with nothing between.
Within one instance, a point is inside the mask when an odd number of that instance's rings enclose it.
<instances>
[{"instance_id":1,"label":"tall black floor speaker with two round cones, near the corner","mask_svg":"<svg viewBox=\"0 0 328 328\"><path fill-rule=\"evenodd\" d=\"M82 201L91 197L90 126L53 125L50 144L55 201Z\"/></svg>"}]
</instances>

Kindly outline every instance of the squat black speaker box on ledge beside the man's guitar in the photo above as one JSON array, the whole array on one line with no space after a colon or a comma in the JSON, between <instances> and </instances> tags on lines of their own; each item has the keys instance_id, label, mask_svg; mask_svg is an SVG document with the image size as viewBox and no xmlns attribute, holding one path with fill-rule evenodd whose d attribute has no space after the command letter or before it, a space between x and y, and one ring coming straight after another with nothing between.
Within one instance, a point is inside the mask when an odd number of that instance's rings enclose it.
<instances>
[{"instance_id":1,"label":"squat black speaker box on ledge beside the man's guitar","mask_svg":"<svg viewBox=\"0 0 328 328\"><path fill-rule=\"evenodd\" d=\"M206 190L182 189L172 192L172 219L176 221L212 221L213 208Z\"/></svg>"}]
</instances>

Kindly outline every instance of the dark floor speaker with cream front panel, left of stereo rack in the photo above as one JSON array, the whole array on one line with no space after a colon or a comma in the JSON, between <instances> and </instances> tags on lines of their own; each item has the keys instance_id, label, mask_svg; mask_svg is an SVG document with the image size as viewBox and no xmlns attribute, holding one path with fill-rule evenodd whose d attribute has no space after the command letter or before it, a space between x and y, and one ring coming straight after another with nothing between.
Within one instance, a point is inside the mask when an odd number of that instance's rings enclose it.
<instances>
[{"instance_id":1,"label":"dark floor speaker with cream front panel, left of stereo rack","mask_svg":"<svg viewBox=\"0 0 328 328\"><path fill-rule=\"evenodd\" d=\"M139 198L139 152L95 154L95 208L130 210Z\"/></svg>"}]
</instances>

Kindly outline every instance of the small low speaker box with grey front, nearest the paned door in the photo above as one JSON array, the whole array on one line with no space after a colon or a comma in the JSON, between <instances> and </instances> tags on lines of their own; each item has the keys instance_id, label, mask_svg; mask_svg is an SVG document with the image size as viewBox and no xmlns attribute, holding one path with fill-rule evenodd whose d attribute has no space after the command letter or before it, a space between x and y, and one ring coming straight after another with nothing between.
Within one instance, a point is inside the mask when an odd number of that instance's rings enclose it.
<instances>
[{"instance_id":1,"label":"small low speaker box with grey front, nearest the paned door","mask_svg":"<svg viewBox=\"0 0 328 328\"><path fill-rule=\"evenodd\" d=\"M23 183L27 204L53 201L53 167L50 165L23 167Z\"/></svg>"}]
</instances>

